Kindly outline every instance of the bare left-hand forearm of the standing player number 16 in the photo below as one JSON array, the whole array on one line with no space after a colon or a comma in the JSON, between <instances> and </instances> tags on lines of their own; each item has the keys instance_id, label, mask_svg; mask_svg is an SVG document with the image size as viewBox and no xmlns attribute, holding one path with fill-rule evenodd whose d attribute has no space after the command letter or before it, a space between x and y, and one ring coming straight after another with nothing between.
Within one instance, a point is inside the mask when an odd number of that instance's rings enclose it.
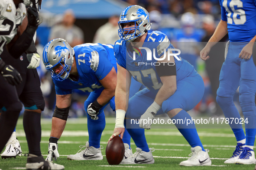
<instances>
[{"instance_id":1,"label":"bare left-hand forearm of the standing player number 16","mask_svg":"<svg viewBox=\"0 0 256 170\"><path fill-rule=\"evenodd\" d=\"M207 43L207 46L213 47L217 42L221 40L227 34L227 22L220 20L217 28L214 31L214 34L211 36L210 40Z\"/></svg>"}]
</instances>

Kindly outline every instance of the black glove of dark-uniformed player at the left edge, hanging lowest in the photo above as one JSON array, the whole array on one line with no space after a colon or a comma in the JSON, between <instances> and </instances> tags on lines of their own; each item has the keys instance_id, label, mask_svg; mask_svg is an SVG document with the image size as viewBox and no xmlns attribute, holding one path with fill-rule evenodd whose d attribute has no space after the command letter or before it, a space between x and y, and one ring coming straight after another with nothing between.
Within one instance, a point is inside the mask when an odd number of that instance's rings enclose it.
<instances>
[{"instance_id":1,"label":"black glove of dark-uniformed player at the left edge, hanging lowest","mask_svg":"<svg viewBox=\"0 0 256 170\"><path fill-rule=\"evenodd\" d=\"M0 73L11 85L19 85L22 82L19 72L12 66L6 65L3 60L0 60Z\"/></svg>"}]
</instances>

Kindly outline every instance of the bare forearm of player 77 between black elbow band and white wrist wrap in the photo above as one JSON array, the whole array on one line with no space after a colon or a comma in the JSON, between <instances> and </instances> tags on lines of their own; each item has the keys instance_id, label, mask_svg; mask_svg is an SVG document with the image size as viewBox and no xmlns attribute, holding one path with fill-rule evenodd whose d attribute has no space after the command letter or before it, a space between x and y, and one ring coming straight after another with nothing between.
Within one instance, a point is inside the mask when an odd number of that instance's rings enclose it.
<instances>
[{"instance_id":1,"label":"bare forearm of player 77 between black elbow band and white wrist wrap","mask_svg":"<svg viewBox=\"0 0 256 170\"><path fill-rule=\"evenodd\" d=\"M162 103L166 101L172 94L175 93L177 87L175 85L166 85L163 84L162 87L159 89L158 93L156 94L155 101L157 104L162 106Z\"/></svg>"}]
</instances>

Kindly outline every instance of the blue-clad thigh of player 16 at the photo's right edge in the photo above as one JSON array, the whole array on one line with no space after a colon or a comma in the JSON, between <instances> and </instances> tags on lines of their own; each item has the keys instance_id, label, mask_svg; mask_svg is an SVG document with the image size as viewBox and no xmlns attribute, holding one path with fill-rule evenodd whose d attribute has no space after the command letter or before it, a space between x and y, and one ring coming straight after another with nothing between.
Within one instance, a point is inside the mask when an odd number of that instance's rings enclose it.
<instances>
[{"instance_id":1,"label":"blue-clad thigh of player 16 at the photo's right edge","mask_svg":"<svg viewBox=\"0 0 256 170\"><path fill-rule=\"evenodd\" d=\"M256 54L255 54L256 55ZM241 78L239 83L239 92L246 94L256 93L256 66L253 58L249 60L241 60Z\"/></svg>"}]
</instances>

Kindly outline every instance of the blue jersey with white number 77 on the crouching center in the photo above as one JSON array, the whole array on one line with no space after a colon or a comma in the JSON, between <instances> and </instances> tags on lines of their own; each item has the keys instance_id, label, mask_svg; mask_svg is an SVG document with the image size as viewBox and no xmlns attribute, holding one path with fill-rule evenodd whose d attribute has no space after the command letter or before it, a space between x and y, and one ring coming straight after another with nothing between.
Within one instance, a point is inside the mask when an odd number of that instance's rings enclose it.
<instances>
[{"instance_id":1,"label":"blue jersey with white number 77 on the crouching center","mask_svg":"<svg viewBox=\"0 0 256 170\"><path fill-rule=\"evenodd\" d=\"M167 36L160 31L152 31L151 33L148 33L142 47L151 49L152 56L155 55L157 59L164 54L167 56L168 49L174 48ZM136 51L136 53L133 51ZM115 57L117 58L117 63L123 68L127 69L136 81L142 83L151 91L158 91L159 88L162 87L161 79L158 76L156 66L154 65L157 60L154 57L152 57L152 60L147 60L146 50L140 49L139 51L139 49L133 47L131 43L121 41L120 39L115 43L114 52ZM173 50L172 53L177 52ZM133 57L134 54L136 57L135 60ZM194 67L186 60L183 60L179 55L177 55L177 57L179 60L174 57L177 81L196 72Z\"/></svg>"}]
</instances>

